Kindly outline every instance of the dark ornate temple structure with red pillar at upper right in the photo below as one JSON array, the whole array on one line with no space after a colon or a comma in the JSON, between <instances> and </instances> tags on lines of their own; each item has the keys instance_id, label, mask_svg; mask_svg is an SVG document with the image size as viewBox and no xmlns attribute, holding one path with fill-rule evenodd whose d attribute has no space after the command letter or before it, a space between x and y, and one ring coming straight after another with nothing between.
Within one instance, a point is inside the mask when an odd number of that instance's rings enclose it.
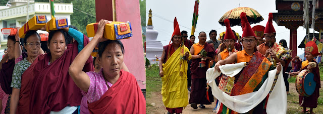
<instances>
[{"instance_id":1,"label":"dark ornate temple structure with red pillar at upper right","mask_svg":"<svg viewBox=\"0 0 323 114\"><path fill-rule=\"evenodd\" d=\"M273 13L273 20L277 23L277 25L285 26L290 30L289 49L293 50L293 52L291 53L292 57L297 56L297 28L304 25L303 4L304 1L298 0L277 0L276 10L278 11L278 13ZM308 26L310 28L312 24L312 10L315 10L314 30L321 33L323 32L323 0L316 0L314 4L315 8L313 8L313 1L309 1ZM318 37L315 38L317 40L320 40L321 42L321 39L323 37L321 37L321 34L319 34Z\"/></svg>"}]
</instances>

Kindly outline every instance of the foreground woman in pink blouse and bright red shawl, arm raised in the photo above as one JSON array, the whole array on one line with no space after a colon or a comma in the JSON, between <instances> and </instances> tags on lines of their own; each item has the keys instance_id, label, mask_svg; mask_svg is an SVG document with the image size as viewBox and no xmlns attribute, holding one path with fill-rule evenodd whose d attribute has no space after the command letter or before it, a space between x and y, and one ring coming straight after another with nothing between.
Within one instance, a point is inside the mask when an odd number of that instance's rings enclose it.
<instances>
[{"instance_id":1,"label":"foreground woman in pink blouse and bright red shawl, arm raised","mask_svg":"<svg viewBox=\"0 0 323 114\"><path fill-rule=\"evenodd\" d=\"M91 42L76 56L69 68L75 84L87 98L90 113L145 113L145 98L136 78L122 70L124 47L119 40L103 40L105 24L101 20ZM106 39L105 39L106 40ZM82 71L91 52L98 44L97 61L102 66L100 72Z\"/></svg>"}]
</instances>

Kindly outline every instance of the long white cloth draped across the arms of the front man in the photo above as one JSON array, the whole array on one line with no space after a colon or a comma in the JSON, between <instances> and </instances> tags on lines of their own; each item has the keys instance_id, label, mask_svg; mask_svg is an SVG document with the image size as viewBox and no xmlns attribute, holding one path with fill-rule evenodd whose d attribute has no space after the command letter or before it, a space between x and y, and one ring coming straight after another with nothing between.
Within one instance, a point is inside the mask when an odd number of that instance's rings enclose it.
<instances>
[{"instance_id":1,"label":"long white cloth draped across the arms of the front man","mask_svg":"<svg viewBox=\"0 0 323 114\"><path fill-rule=\"evenodd\" d=\"M236 64L227 64L220 66L220 70L223 74L227 76L235 76L238 74L243 67L245 67L246 62L236 63ZM283 69L283 67L282 67ZM271 70L268 72L268 78L264 81L262 86L259 88L258 91L230 96L227 93L223 92L217 86L214 79L220 76L221 72L215 71L214 68L209 68L206 71L206 80L209 86L212 88L212 94L216 97L219 101L221 101L224 105L228 108L238 112L238 113L245 113L257 106L270 92L272 85L275 80L275 75L277 69ZM270 94L266 112L267 113L286 113L287 111L287 94L286 94L286 87L284 83L283 73L280 72L276 85Z\"/></svg>"}]
</instances>

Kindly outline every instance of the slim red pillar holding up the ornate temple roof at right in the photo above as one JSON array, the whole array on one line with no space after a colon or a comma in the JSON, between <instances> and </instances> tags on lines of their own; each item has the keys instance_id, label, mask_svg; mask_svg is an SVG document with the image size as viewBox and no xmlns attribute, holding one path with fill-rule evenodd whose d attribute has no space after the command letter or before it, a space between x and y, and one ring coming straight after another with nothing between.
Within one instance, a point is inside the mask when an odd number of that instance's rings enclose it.
<instances>
[{"instance_id":1,"label":"slim red pillar holding up the ornate temple roof at right","mask_svg":"<svg viewBox=\"0 0 323 114\"><path fill-rule=\"evenodd\" d=\"M297 56L297 28L290 29L289 49L292 50L292 58ZM292 67L294 68L294 63L292 63Z\"/></svg>"}]
</instances>

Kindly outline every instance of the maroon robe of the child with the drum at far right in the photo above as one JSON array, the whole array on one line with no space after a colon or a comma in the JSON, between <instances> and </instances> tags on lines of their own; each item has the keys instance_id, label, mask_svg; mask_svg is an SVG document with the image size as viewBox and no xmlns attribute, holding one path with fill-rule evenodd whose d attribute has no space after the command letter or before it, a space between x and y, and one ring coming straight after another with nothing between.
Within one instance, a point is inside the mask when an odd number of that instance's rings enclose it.
<instances>
[{"instance_id":1,"label":"maroon robe of the child with the drum at far right","mask_svg":"<svg viewBox=\"0 0 323 114\"><path fill-rule=\"evenodd\" d=\"M311 72L314 74L314 81L316 82L315 90L314 90L313 94L311 94L310 96L299 95L298 98L299 98L299 105L300 106L315 108L315 107L317 107L317 98L319 97L319 88L321 87L321 83L320 83L320 79L319 79L318 64L314 60L312 62L316 63L316 67L311 69ZM305 66L300 71L307 69L307 66Z\"/></svg>"}]
</instances>

